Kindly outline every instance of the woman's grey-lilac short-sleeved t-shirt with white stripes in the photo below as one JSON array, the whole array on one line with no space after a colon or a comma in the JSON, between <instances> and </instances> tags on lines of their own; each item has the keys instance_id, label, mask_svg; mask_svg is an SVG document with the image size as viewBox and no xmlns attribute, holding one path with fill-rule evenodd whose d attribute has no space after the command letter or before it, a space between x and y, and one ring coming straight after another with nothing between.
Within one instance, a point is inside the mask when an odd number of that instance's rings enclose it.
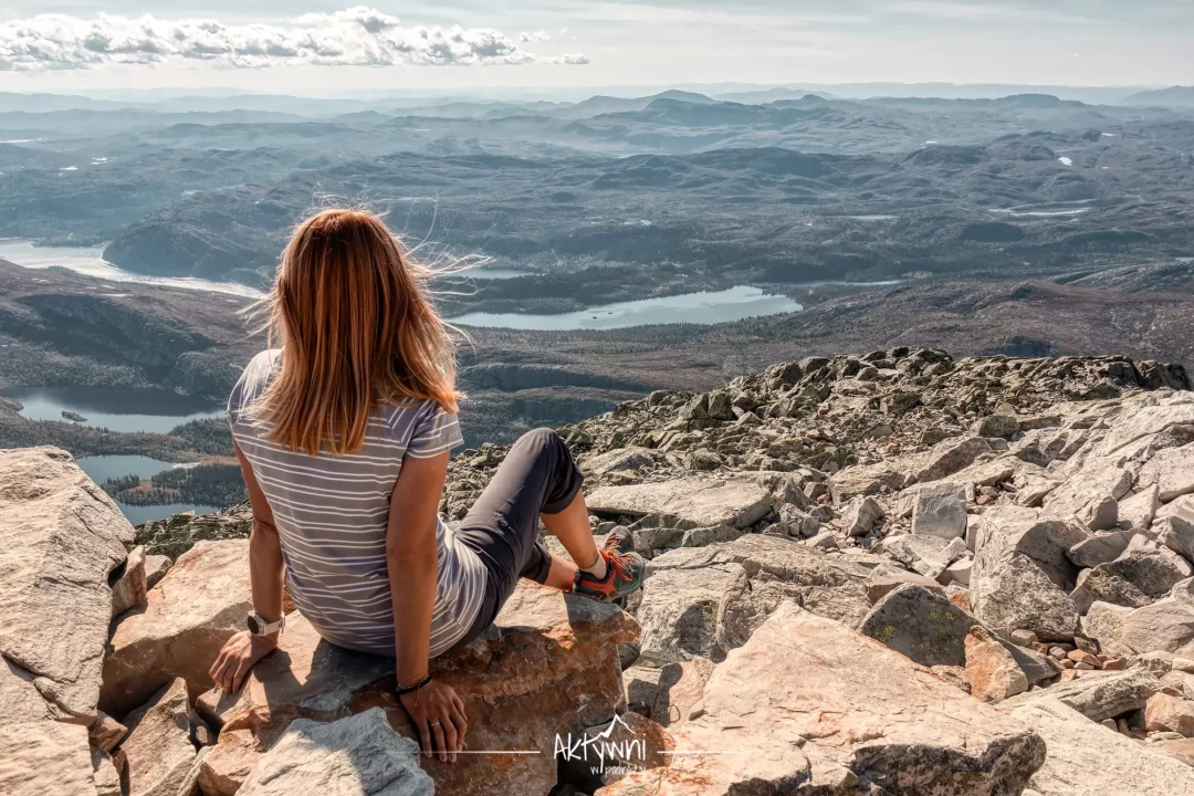
<instances>
[{"instance_id":1,"label":"woman's grey-lilac short-sleeved t-shirt with white stripes","mask_svg":"<svg viewBox=\"0 0 1194 796\"><path fill-rule=\"evenodd\" d=\"M248 363L228 400L228 422L273 511L287 587L324 638L393 655L394 612L386 566L390 493L402 459L455 448L462 442L460 424L455 413L433 401L378 406L357 452L308 456L290 451L270 442L267 426L245 412L277 372L281 354L281 350L264 351ZM473 625L486 580L481 560L438 518L436 539L439 573L432 656L451 648Z\"/></svg>"}]
</instances>

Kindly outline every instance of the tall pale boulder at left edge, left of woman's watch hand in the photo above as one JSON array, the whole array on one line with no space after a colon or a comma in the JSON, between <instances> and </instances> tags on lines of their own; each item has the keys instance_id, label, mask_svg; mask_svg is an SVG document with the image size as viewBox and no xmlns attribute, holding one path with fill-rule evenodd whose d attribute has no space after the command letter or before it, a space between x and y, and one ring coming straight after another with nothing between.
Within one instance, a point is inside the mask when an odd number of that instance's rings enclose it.
<instances>
[{"instance_id":1,"label":"tall pale boulder at left edge, left of woman's watch hand","mask_svg":"<svg viewBox=\"0 0 1194 796\"><path fill-rule=\"evenodd\" d=\"M96 717L112 592L134 530L56 448L0 451L0 653L60 717Z\"/></svg>"}]
</instances>

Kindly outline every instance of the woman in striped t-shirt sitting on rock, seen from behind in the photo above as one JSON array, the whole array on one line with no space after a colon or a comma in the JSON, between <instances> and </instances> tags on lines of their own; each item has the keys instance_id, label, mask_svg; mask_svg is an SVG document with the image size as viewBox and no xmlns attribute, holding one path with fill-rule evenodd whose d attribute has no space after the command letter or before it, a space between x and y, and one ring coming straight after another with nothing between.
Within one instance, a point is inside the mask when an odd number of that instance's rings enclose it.
<instances>
[{"instance_id":1,"label":"woman in striped t-shirt sitting on rock, seen from behind","mask_svg":"<svg viewBox=\"0 0 1194 796\"><path fill-rule=\"evenodd\" d=\"M458 526L439 519L461 433L429 276L367 212L320 212L287 246L265 300L282 347L254 357L228 401L254 610L211 677L236 691L277 647L284 580L324 638L396 656L424 753L455 760L463 703L429 661L480 635L519 578L608 600L641 586L644 562L624 535L597 548L580 471L544 428L513 445ZM538 543L540 519L572 561Z\"/></svg>"}]
</instances>

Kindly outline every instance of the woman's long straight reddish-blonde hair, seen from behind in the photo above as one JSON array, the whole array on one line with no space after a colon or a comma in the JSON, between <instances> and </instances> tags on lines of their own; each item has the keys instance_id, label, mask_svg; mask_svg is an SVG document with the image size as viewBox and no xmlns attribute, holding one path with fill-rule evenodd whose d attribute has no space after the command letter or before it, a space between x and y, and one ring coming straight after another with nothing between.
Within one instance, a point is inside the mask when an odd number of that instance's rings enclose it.
<instances>
[{"instance_id":1,"label":"woman's long straight reddish-blonde hair, seen from behind","mask_svg":"<svg viewBox=\"0 0 1194 796\"><path fill-rule=\"evenodd\" d=\"M456 412L455 346L430 301L430 269L371 212L331 209L298 226L263 300L281 371L253 406L270 440L310 456L361 450L378 403Z\"/></svg>"}]
</instances>

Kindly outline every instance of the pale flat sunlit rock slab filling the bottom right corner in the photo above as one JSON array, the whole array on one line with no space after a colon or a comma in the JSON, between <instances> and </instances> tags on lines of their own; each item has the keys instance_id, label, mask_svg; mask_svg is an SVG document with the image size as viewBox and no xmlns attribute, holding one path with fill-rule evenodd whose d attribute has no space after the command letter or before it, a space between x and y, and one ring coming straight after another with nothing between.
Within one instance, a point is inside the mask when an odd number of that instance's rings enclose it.
<instances>
[{"instance_id":1,"label":"pale flat sunlit rock slab filling the bottom right corner","mask_svg":"<svg viewBox=\"0 0 1194 796\"><path fill-rule=\"evenodd\" d=\"M1057 699L1011 711L1048 745L1029 788L1041 796L1194 796L1194 769L1094 722Z\"/></svg>"}]
</instances>

